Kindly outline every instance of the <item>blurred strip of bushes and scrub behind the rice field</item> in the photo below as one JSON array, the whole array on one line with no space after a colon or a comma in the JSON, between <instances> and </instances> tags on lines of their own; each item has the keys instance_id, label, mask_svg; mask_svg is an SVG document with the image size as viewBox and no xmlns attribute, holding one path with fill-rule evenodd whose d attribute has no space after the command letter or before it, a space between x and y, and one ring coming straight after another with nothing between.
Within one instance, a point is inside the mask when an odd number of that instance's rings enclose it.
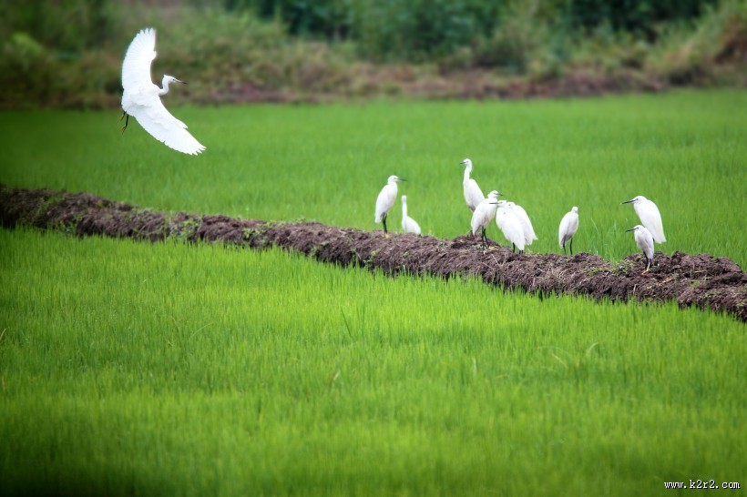
<instances>
[{"instance_id":1,"label":"blurred strip of bushes and scrub behind the rice field","mask_svg":"<svg viewBox=\"0 0 747 497\"><path fill-rule=\"evenodd\" d=\"M744 0L226 0L0 5L0 106L117 106L120 66L159 29L175 99L525 96L743 85ZM169 96L170 98L170 96Z\"/></svg>"}]
</instances>

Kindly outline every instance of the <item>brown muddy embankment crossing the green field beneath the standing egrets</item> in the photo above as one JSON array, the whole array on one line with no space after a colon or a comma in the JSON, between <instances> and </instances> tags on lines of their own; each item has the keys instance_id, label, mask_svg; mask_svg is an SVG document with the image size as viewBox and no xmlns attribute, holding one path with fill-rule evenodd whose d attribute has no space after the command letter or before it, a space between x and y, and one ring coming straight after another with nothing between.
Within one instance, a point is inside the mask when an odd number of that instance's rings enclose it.
<instances>
[{"instance_id":1,"label":"brown muddy embankment crossing the green field beneath the standing egrets","mask_svg":"<svg viewBox=\"0 0 747 497\"><path fill-rule=\"evenodd\" d=\"M381 231L334 228L320 223L266 222L226 216L176 214L137 208L88 193L0 185L0 222L58 229L77 236L103 235L156 242L220 242L251 249L272 246L324 262L451 278L471 275L488 284L540 295L567 293L595 299L677 300L680 306L721 310L747 321L747 274L731 259L707 254L658 252L645 260L631 255L618 263L580 253L518 255L510 248L484 250L477 239L441 239Z\"/></svg>"}]
</instances>

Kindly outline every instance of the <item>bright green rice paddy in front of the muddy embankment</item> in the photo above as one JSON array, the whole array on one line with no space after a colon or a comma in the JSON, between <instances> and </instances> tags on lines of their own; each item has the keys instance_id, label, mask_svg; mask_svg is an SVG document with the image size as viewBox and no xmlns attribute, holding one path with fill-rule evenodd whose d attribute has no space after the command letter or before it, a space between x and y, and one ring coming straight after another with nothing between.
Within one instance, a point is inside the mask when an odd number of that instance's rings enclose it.
<instances>
[{"instance_id":1,"label":"bright green rice paddy in front of the muddy embankment","mask_svg":"<svg viewBox=\"0 0 747 497\"><path fill-rule=\"evenodd\" d=\"M742 475L743 324L0 231L6 492L629 494Z\"/></svg>"}]
</instances>

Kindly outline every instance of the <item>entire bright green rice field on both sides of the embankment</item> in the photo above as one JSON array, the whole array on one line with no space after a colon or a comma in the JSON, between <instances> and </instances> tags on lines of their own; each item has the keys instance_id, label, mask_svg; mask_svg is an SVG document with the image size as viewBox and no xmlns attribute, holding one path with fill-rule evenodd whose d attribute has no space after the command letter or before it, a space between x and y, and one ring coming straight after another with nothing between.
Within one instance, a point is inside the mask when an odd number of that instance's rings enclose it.
<instances>
[{"instance_id":1,"label":"entire bright green rice field on both sides of the embankment","mask_svg":"<svg viewBox=\"0 0 747 497\"><path fill-rule=\"evenodd\" d=\"M619 202L641 194L661 210L661 249L744 267L745 108L732 90L173 109L200 157L134 123L121 137L116 111L5 112L0 182L373 229L397 174L424 231L454 237L470 157L485 191L527 208L531 251L557 250L576 205L575 249L633 253ZM727 316L26 229L0 230L0 302L0 493L747 485L747 340Z\"/></svg>"}]
</instances>

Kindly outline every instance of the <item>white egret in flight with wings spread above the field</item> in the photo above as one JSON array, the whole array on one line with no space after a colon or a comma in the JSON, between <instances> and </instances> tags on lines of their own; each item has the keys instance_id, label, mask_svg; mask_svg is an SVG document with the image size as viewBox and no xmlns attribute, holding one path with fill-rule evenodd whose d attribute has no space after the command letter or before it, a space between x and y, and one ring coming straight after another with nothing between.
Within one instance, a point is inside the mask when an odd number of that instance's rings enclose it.
<instances>
[{"instance_id":1,"label":"white egret in flight with wings spread above the field","mask_svg":"<svg viewBox=\"0 0 747 497\"><path fill-rule=\"evenodd\" d=\"M156 30L148 27L135 36L129 44L125 61L122 63L122 117L127 116L122 132L128 127L129 117L138 119L157 140L174 150L197 155L205 149L187 131L187 125L171 116L163 106L160 96L169 93L170 83L183 83L174 76L163 76L163 88L150 79L150 63L156 58ZM186 83L185 83L186 85ZM122 118L120 117L121 121Z\"/></svg>"}]
</instances>

